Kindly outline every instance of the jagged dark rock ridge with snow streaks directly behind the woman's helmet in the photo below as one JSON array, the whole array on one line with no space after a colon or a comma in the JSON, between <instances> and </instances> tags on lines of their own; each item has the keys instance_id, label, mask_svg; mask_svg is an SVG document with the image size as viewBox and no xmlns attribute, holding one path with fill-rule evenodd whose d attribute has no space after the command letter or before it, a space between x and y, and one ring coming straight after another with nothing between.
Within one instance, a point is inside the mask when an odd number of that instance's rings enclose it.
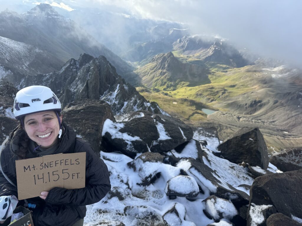
<instances>
[{"instance_id":1,"label":"jagged dark rock ridge with snow streaks directly behind the woman's helmet","mask_svg":"<svg viewBox=\"0 0 302 226\"><path fill-rule=\"evenodd\" d=\"M79 99L101 99L110 104L115 115L140 109L162 112L156 103L149 103L126 83L104 56L82 54L78 60L67 61L59 71L25 77L22 87L34 84L50 87L63 107Z\"/></svg>"}]
</instances>

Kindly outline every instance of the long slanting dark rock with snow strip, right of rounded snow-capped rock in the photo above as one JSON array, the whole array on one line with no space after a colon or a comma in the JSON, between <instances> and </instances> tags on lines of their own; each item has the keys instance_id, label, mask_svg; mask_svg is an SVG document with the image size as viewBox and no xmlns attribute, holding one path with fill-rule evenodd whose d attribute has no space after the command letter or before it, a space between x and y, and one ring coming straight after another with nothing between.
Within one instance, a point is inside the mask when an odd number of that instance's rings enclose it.
<instances>
[{"instance_id":1,"label":"long slanting dark rock with snow strip, right of rounded snow-capped rock","mask_svg":"<svg viewBox=\"0 0 302 226\"><path fill-rule=\"evenodd\" d=\"M230 199L236 206L246 205L249 202L249 195L234 188L231 180L223 180L213 169L192 158L183 158L177 164L188 176L193 177L201 187L202 193L216 195L217 197Z\"/></svg>"}]
</instances>

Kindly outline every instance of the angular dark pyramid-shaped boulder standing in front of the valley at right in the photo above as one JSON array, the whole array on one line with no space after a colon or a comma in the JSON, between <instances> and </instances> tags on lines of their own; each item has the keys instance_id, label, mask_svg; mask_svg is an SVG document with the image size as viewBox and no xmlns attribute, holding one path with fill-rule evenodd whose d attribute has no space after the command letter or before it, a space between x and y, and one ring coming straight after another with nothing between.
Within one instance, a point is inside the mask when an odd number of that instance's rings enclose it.
<instances>
[{"instance_id":1,"label":"angular dark pyramid-shaped boulder standing in front of the valley at right","mask_svg":"<svg viewBox=\"0 0 302 226\"><path fill-rule=\"evenodd\" d=\"M243 128L218 146L221 155L230 162L246 162L252 166L268 167L267 147L259 128Z\"/></svg>"}]
</instances>

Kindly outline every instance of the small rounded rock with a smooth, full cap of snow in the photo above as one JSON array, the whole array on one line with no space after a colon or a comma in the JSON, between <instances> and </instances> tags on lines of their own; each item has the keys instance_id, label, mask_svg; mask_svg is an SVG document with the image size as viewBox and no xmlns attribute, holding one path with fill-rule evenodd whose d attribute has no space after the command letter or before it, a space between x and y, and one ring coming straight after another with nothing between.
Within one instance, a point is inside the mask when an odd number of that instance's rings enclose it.
<instances>
[{"instance_id":1,"label":"small rounded rock with a smooth, full cap of snow","mask_svg":"<svg viewBox=\"0 0 302 226\"><path fill-rule=\"evenodd\" d=\"M193 177L178 175L167 181L165 193L168 196L192 198L199 194L199 187Z\"/></svg>"}]
</instances>

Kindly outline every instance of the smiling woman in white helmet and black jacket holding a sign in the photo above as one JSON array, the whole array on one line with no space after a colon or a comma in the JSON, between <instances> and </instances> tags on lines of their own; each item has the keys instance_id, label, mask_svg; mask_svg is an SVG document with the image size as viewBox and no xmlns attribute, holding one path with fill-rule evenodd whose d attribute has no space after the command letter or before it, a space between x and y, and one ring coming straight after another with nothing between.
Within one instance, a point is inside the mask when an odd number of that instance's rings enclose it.
<instances>
[{"instance_id":1,"label":"smiling woman in white helmet and black jacket holding a sign","mask_svg":"<svg viewBox=\"0 0 302 226\"><path fill-rule=\"evenodd\" d=\"M29 86L16 94L14 116L20 125L11 132L0 154L0 201L11 200L14 205L9 205L11 211L0 209L0 224L11 216L16 205L24 205L33 207L29 209L34 225L80 226L86 214L85 205L100 201L110 190L107 166L88 142L76 137L60 112L59 99L46 86ZM18 200L15 160L78 152L86 153L84 188L54 187L42 191L39 197ZM26 184L18 184L18 188L23 186Z\"/></svg>"}]
</instances>

